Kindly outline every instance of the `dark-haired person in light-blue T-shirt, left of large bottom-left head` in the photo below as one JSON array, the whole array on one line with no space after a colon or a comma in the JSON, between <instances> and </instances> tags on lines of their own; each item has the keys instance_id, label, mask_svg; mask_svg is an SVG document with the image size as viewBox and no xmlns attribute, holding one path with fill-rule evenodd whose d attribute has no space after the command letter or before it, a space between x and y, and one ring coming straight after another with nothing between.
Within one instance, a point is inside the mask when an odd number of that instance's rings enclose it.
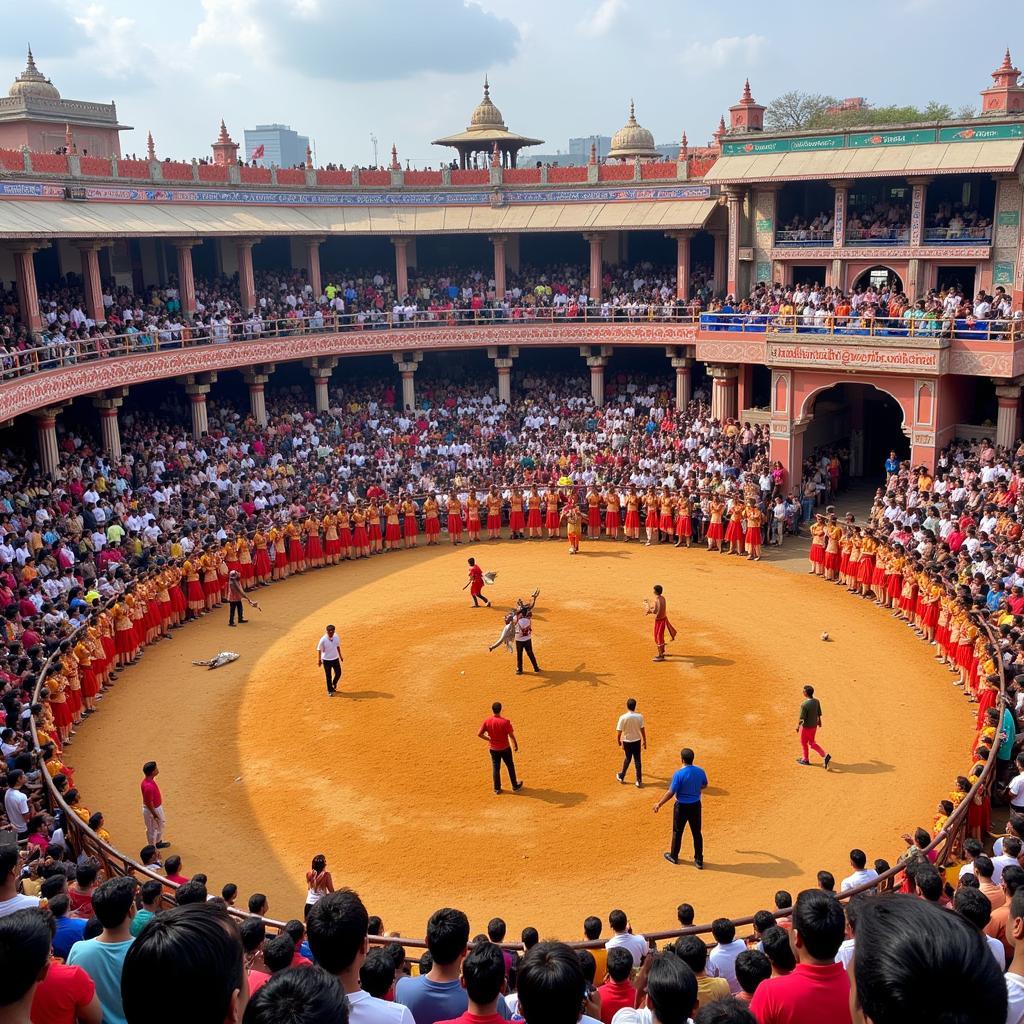
<instances>
[{"instance_id":1,"label":"dark-haired person in light-blue T-shirt, left of large bottom-left head","mask_svg":"<svg viewBox=\"0 0 1024 1024\"><path fill-rule=\"evenodd\" d=\"M92 908L102 928L93 939L76 942L68 963L81 967L96 986L103 1007L103 1024L121 1024L125 1018L121 1001L121 974L134 939L131 919L135 913L138 883L131 877L108 879L96 886Z\"/></svg>"}]
</instances>

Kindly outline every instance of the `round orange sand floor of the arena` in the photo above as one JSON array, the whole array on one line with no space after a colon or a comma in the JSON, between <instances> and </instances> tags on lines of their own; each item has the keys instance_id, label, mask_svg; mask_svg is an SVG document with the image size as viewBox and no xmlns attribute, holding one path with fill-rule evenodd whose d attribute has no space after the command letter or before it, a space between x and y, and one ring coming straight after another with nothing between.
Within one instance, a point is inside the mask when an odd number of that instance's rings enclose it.
<instances>
[{"instance_id":1,"label":"round orange sand floor of the arena","mask_svg":"<svg viewBox=\"0 0 1024 1024\"><path fill-rule=\"evenodd\" d=\"M494 610L460 591L469 554L499 572ZM664 665L642 614L653 583L680 629ZM512 656L486 646L501 609L535 587L545 671L516 677ZM698 921L753 912L819 868L842 878L851 846L893 860L901 831L931 823L971 741L952 677L890 614L803 572L698 549L421 548L256 596L251 625L228 632L224 608L147 651L69 759L83 803L136 853L140 766L156 758L184 872L206 871L213 892L236 882L243 905L265 892L282 919L301 916L318 852L336 885L409 936L445 904L474 933L502 914L510 935L534 925L564 938L613 906L651 931L673 927L682 900ZM314 653L329 621L345 657L334 699ZM224 649L242 657L190 665ZM830 773L795 763L805 682L824 706ZM650 740L642 792L614 778L630 695ZM476 735L495 699L519 736L516 795L493 794ZM651 812L684 744L711 780L703 872L662 859L671 806Z\"/></svg>"}]
</instances>

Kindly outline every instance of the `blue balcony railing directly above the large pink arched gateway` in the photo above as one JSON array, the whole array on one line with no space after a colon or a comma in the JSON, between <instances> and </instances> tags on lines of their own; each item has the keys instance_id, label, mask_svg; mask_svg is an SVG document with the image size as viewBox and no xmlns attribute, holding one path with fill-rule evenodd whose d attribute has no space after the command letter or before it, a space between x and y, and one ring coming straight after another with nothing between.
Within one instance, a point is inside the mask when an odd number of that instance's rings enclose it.
<instances>
[{"instance_id":1,"label":"blue balcony railing directly above the large pink arched gateway","mask_svg":"<svg viewBox=\"0 0 1024 1024\"><path fill-rule=\"evenodd\" d=\"M801 313L701 313L701 331L738 334L837 335L857 338L929 338L958 341L1024 340L1021 319L954 319L904 316L837 316L807 319Z\"/></svg>"}]
</instances>

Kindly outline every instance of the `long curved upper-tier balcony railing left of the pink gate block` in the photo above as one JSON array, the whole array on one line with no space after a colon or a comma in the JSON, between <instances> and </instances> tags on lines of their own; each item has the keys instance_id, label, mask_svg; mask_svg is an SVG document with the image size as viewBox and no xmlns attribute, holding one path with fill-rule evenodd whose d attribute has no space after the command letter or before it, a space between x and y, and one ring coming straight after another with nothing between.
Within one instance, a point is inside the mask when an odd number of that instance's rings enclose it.
<instances>
[{"instance_id":1,"label":"long curved upper-tier balcony railing left of the pink gate block","mask_svg":"<svg viewBox=\"0 0 1024 1024\"><path fill-rule=\"evenodd\" d=\"M43 343L33 347L4 350L0 346L0 382L25 377L46 370L67 369L79 364L93 362L121 355L139 355L168 349L188 349L198 346L229 345L232 342L252 342L264 339L305 337L339 333L373 333L375 331L409 331L437 328L530 328L589 325L626 326L640 324L695 325L696 314L672 304L649 306L633 310L626 307L612 309L605 315L600 309L583 310L569 315L555 307L529 306L511 309L480 310L420 310L411 317L381 313L370 317L362 313L345 313L311 319L273 319L217 324L197 328L191 325L148 327L121 334L96 331L86 338L63 335L43 335ZM410 339L415 346L415 340Z\"/></svg>"}]
</instances>

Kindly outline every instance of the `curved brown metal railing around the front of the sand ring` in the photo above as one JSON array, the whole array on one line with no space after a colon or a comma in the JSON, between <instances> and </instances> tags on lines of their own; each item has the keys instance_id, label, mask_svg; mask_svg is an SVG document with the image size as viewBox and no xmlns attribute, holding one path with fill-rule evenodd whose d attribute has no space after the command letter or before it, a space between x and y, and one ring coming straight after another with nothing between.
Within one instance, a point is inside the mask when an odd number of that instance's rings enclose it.
<instances>
[{"instance_id":1,"label":"curved brown metal railing around the front of the sand ring","mask_svg":"<svg viewBox=\"0 0 1024 1024\"><path fill-rule=\"evenodd\" d=\"M106 602L109 606L113 603L115 599ZM996 643L997 637L992 630L988 622L978 614L977 612L972 612L972 615L977 620L979 628L987 635L989 642ZM85 632L88 628L88 624L79 627L72 635L71 641L72 645L77 642L78 638ZM45 686L46 676L49 672L54 658L58 655L59 651L53 651L50 656L46 659L43 665L42 670L36 677L35 687L33 689L33 702L38 703L40 700L40 692ZM999 722L1002 721L1002 716L1006 710L1006 671L1002 665L1001 658L997 662L998 671L998 684L999 684L999 697L996 703ZM35 719L30 719L30 729L32 733L33 745L36 751L40 749L39 744L39 734L36 729ZM971 787L970 792L961 802L961 804L953 809L952 814L949 815L945 824L932 839L931 843L928 844L922 850L923 855L936 853L936 862L942 864L945 859L948 858L956 849L959 848L963 843L963 839L966 835L967 822L968 822L968 812L970 810L971 804L974 799L978 796L985 795L990 792L991 784L993 780L993 772L995 770L996 759L989 758L981 771L981 775L978 777L977 781ZM168 905L173 903L174 891L177 889L177 884L168 881L164 876L159 874L152 868L145 867L139 864L137 861L133 860L127 854L121 853L111 844L104 842L96 835L96 833L88 826L66 803L63 797L60 795L59 791L53 783L53 779L50 777L49 772L43 771L42 778L45 784L47 804L50 810L59 809L65 822L65 834L71 840L72 846L79 854L86 854L88 856L95 857L96 860L102 865L102 867L108 872L109 877L113 876L132 876L135 878L142 878L146 881L154 880L159 882L164 887L164 902ZM907 867L907 862L898 861L889 870L883 872L872 882L865 883L862 886L858 886L854 889L847 890L846 892L839 895L841 901L849 900L854 896L858 896L862 893L871 892L873 890L882 890L891 887L896 880L901 876ZM775 911L776 920L781 918L786 918L790 915L792 910L777 910ZM238 919L244 919L247 916L252 916L246 911L240 910L232 907L231 913ZM271 932L281 932L284 930L285 922L278 921L271 918L264 918L264 923L268 930ZM737 930L745 929L754 923L754 915L748 915L743 918L737 918L733 920L733 924L736 926ZM683 935L699 935L709 936L712 931L711 924L705 925L692 925L688 928L672 929L669 931L662 932L644 932L644 936L647 940L653 944L655 942L663 942L670 939L676 939ZM422 939L410 939L410 938L395 938L395 937L380 937L380 936L370 936L370 941L372 943L377 943L381 945L386 945L391 942L398 942L403 946L409 946L412 948L424 948L426 943ZM596 939L591 941L582 941L570 943L575 948L597 948L604 945L604 940ZM502 945L507 949L520 950L522 949L521 943L502 943Z\"/></svg>"}]
</instances>

